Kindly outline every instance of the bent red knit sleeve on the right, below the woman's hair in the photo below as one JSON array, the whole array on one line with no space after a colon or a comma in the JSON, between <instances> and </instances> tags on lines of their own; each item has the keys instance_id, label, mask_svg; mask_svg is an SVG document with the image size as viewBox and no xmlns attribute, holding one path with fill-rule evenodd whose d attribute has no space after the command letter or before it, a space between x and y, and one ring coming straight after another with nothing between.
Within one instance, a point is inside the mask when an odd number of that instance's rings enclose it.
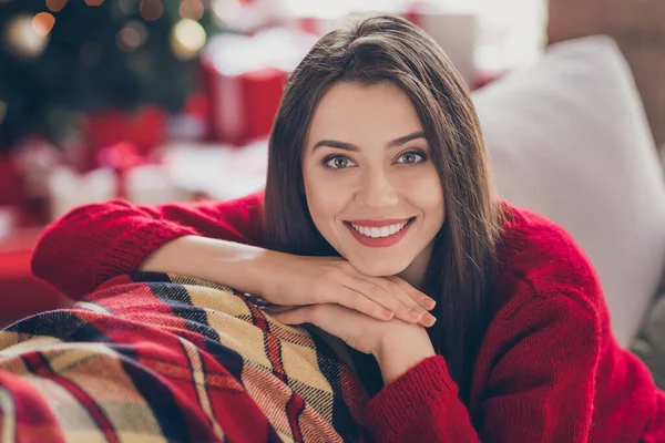
<instances>
[{"instance_id":1,"label":"bent red knit sleeve on the right, below the woman's hair","mask_svg":"<svg viewBox=\"0 0 665 443\"><path fill-rule=\"evenodd\" d=\"M587 442L600 333L593 307L575 298L539 297L494 319L477 429L437 356L371 400L366 412L377 441Z\"/></svg>"}]
</instances>

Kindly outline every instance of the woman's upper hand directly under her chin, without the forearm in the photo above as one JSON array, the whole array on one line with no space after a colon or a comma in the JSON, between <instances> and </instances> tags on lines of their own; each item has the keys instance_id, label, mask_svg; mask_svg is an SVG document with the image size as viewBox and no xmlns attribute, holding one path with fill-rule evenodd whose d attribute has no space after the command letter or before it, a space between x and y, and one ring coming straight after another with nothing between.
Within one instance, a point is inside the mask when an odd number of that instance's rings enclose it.
<instances>
[{"instance_id":1,"label":"woman's upper hand directly under her chin, without the forearm","mask_svg":"<svg viewBox=\"0 0 665 443\"><path fill-rule=\"evenodd\" d=\"M336 257L267 251L257 260L259 295L280 306L337 303L378 320L431 327L434 300L398 277L367 277Z\"/></svg>"}]
</instances>

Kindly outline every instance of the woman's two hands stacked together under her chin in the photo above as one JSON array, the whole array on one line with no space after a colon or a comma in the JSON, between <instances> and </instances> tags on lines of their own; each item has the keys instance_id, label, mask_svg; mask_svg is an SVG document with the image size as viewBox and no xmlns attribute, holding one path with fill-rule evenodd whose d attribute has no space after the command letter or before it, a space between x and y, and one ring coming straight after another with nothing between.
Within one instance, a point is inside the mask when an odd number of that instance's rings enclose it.
<instances>
[{"instance_id":1,"label":"woman's two hands stacked together under her chin","mask_svg":"<svg viewBox=\"0 0 665 443\"><path fill-rule=\"evenodd\" d=\"M279 306L266 309L277 321L314 324L372 354L386 384L434 356L426 327L436 302L405 280L365 276L341 258L277 258L259 268L260 296Z\"/></svg>"}]
</instances>

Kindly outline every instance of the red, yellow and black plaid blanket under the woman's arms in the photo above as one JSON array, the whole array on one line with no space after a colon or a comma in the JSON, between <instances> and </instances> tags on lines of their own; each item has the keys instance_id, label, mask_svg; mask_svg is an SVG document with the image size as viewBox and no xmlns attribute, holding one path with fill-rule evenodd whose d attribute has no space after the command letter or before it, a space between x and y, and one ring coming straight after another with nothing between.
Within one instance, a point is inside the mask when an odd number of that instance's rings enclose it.
<instances>
[{"instance_id":1,"label":"red, yellow and black plaid blanket under the woman's arms","mask_svg":"<svg viewBox=\"0 0 665 443\"><path fill-rule=\"evenodd\" d=\"M205 281L135 274L0 331L2 442L355 442L325 341Z\"/></svg>"}]
</instances>

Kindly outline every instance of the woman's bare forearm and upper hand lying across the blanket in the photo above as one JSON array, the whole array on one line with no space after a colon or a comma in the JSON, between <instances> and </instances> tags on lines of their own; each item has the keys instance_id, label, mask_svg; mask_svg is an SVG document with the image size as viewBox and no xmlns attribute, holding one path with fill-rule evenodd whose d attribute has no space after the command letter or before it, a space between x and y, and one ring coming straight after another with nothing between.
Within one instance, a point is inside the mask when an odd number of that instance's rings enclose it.
<instances>
[{"instance_id":1,"label":"woman's bare forearm and upper hand lying across the blanket","mask_svg":"<svg viewBox=\"0 0 665 443\"><path fill-rule=\"evenodd\" d=\"M185 236L154 251L141 270L229 286L280 306L339 303L381 320L432 326L434 301L399 278L367 277L341 258L301 257Z\"/></svg>"}]
</instances>

